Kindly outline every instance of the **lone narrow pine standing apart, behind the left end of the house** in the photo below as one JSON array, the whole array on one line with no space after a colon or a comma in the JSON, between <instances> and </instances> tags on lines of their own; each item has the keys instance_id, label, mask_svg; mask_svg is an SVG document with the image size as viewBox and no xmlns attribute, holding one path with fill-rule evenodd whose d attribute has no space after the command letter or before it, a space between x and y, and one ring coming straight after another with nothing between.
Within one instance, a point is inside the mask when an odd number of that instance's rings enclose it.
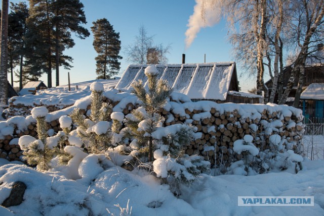
<instances>
[{"instance_id":1,"label":"lone narrow pine standing apart, behind the left end of the house","mask_svg":"<svg viewBox=\"0 0 324 216\"><path fill-rule=\"evenodd\" d=\"M98 53L96 60L97 79L110 79L120 69L122 59L119 56L120 40L119 33L116 33L113 26L105 18L93 22L91 30L94 35L93 46Z\"/></svg>"}]
</instances>

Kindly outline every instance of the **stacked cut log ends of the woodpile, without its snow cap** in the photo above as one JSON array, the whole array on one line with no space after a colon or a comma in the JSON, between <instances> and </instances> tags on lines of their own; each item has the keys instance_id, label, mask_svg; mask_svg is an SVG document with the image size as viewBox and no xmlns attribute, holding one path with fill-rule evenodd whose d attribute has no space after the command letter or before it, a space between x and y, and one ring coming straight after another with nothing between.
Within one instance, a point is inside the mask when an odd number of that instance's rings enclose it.
<instances>
[{"instance_id":1,"label":"stacked cut log ends of the woodpile, without its snow cap","mask_svg":"<svg viewBox=\"0 0 324 216\"><path fill-rule=\"evenodd\" d=\"M113 106L117 105L119 101L110 101L105 98L106 102L111 103ZM139 105L128 103L121 112L124 115L131 113ZM81 110L83 114L86 114L90 109L90 105L87 110ZM220 165L221 163L229 164L237 159L241 158L241 155L236 155L233 152L233 144L236 140L242 139L245 135L250 134L254 137L255 145L263 150L269 146L269 137L272 134L279 134L282 138L287 139L291 143L300 143L301 135L304 130L304 126L301 123L301 119L296 116L280 117L279 113L268 110L263 110L259 115L261 119L242 118L237 110L232 112L220 112L214 107L209 112L200 110L185 109L183 115L165 109L159 111L160 115L165 118L164 126L174 124L192 124L196 128L196 139L188 143L185 146L185 153L199 154L209 160L213 165ZM196 118L197 115L209 116L209 118ZM252 115L251 115L252 116ZM267 133L265 123L280 122L278 127L274 127L274 131ZM262 124L261 124L262 123ZM48 123L48 127L52 128L55 132L61 130L59 121L55 120ZM20 137L22 135L30 135L36 137L35 125L29 125L28 130L14 133L14 136L7 136L4 140L0 140L0 157L10 160L19 160L21 151L18 145L10 145L10 141L13 138Z\"/></svg>"}]
</instances>

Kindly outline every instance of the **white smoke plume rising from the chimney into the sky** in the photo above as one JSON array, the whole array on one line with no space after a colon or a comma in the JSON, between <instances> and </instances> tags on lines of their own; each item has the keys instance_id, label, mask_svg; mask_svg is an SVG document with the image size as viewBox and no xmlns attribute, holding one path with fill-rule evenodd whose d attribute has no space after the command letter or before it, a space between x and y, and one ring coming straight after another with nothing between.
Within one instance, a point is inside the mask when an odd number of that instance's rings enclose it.
<instances>
[{"instance_id":1,"label":"white smoke plume rising from the chimney into the sky","mask_svg":"<svg viewBox=\"0 0 324 216\"><path fill-rule=\"evenodd\" d=\"M212 27L221 19L219 7L216 7L217 0L195 0L193 14L188 20L188 29L185 33L186 48L189 48L201 28Z\"/></svg>"}]
</instances>

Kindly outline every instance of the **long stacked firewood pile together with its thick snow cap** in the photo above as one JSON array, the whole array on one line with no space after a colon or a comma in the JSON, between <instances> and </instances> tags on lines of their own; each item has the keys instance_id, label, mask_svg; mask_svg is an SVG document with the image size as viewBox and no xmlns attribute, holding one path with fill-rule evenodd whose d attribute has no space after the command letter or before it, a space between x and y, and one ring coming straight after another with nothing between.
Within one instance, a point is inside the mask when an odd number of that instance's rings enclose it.
<instances>
[{"instance_id":1,"label":"long stacked firewood pile together with its thick snow cap","mask_svg":"<svg viewBox=\"0 0 324 216\"><path fill-rule=\"evenodd\" d=\"M115 112L125 115L136 109L138 100L129 93L106 92L105 101L110 102ZM61 130L59 117L69 115L75 106L84 114L90 112L89 97L80 99L74 106L49 113L49 134ZM160 111L165 118L164 126L192 124L197 128L195 140L185 147L185 153L203 155L212 165L230 163L241 158L233 152L235 140L250 134L253 143L260 149L269 148L269 137L278 134L280 145L297 149L303 133L302 112L287 105L276 104L217 104L211 101L191 102L185 95L173 93L171 101ZM21 151L18 138L22 135L36 136L35 121L31 116L16 116L0 122L0 157L19 160ZM298 149L297 151L298 152Z\"/></svg>"}]
</instances>

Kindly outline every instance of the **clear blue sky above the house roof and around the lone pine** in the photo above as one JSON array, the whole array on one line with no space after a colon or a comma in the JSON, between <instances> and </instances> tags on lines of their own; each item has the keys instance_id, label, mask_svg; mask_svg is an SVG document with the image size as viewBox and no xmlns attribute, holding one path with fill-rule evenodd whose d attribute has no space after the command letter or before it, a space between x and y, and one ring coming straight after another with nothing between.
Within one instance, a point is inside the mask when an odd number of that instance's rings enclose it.
<instances>
[{"instance_id":1,"label":"clear blue sky above the house roof and around the lone pine","mask_svg":"<svg viewBox=\"0 0 324 216\"><path fill-rule=\"evenodd\" d=\"M106 18L116 32L119 32L121 41L120 56L121 69L117 76L121 76L130 64L125 55L125 47L134 42L138 35L138 28L144 25L148 35L153 35L157 44L171 44L170 54L167 56L170 64L180 64L182 53L186 54L186 63L229 62L234 61L231 56L231 45L227 41L227 28L222 21L214 27L203 28L191 46L185 49L185 32L188 19L193 14L194 0L80 0L84 4L87 18L85 26L91 32L92 22ZM20 1L10 1L17 3ZM71 83L77 83L96 78L95 52L92 42L93 35L84 40L74 37L75 46L65 51L74 60L70 72ZM237 68L238 76L240 74ZM46 76L41 78L47 81ZM242 91L252 89L253 80L238 78ZM52 80L55 81L53 72ZM54 82L55 84L55 82ZM67 84L67 71L60 69L60 84Z\"/></svg>"}]
</instances>

